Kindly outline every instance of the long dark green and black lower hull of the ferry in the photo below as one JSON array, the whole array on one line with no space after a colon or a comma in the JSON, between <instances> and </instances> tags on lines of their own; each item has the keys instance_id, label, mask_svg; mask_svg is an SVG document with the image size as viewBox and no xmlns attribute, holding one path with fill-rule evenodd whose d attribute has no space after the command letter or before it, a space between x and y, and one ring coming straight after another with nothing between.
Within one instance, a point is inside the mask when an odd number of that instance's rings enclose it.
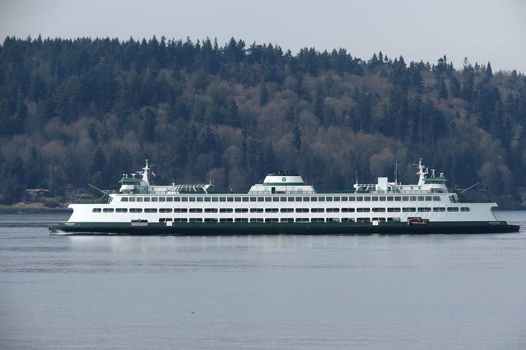
<instances>
[{"instance_id":1,"label":"long dark green and black lower hull of the ferry","mask_svg":"<svg viewBox=\"0 0 526 350\"><path fill-rule=\"evenodd\" d=\"M128 224L129 225L129 224ZM499 222L498 224L447 222L427 225L408 224L177 224L174 226L124 226L97 224L58 225L50 227L50 234L126 234L126 235L180 235L219 236L250 234L296 234L296 235L346 235L346 234L505 234L518 232L520 226Z\"/></svg>"}]
</instances>

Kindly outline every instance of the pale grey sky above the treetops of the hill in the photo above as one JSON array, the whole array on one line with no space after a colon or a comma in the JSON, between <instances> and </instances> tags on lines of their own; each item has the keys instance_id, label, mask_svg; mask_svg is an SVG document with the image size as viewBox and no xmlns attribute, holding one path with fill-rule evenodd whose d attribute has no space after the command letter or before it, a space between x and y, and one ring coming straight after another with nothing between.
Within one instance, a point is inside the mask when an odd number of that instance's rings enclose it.
<instances>
[{"instance_id":1,"label":"pale grey sky above the treetops of the hill","mask_svg":"<svg viewBox=\"0 0 526 350\"><path fill-rule=\"evenodd\" d=\"M457 69L467 57L472 64L490 61L494 71L524 73L525 18L522 0L2 0L0 39L208 36L223 45L234 36L292 53L343 47L362 59L382 51L407 62L447 55Z\"/></svg>"}]
</instances>

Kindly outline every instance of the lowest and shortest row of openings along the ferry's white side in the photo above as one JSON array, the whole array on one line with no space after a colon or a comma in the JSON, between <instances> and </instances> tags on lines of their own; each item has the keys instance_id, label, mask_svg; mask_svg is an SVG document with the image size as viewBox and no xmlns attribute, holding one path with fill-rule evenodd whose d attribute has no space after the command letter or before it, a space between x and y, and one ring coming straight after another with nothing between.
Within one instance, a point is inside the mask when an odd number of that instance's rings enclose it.
<instances>
[{"instance_id":1,"label":"lowest and shortest row of openings along the ferry's white side","mask_svg":"<svg viewBox=\"0 0 526 350\"><path fill-rule=\"evenodd\" d=\"M356 222L370 222L370 221L379 221L379 222L393 222L393 221L400 221L400 217L373 217L372 219L370 217L358 217L356 218ZM237 218L231 218L231 217L224 217L217 219L215 217L207 217L205 219L202 219L200 217L191 217L190 219L187 218L180 218L180 217L163 217L159 219L159 222L355 222L355 219L353 217L342 217L342 219L335 219L333 217L313 217L309 219L308 217L299 217L297 219L294 219L292 217L284 217L281 219L278 219L277 217L272 217L268 219L263 219L261 217L248 219L248 217L237 217Z\"/></svg>"}]
</instances>

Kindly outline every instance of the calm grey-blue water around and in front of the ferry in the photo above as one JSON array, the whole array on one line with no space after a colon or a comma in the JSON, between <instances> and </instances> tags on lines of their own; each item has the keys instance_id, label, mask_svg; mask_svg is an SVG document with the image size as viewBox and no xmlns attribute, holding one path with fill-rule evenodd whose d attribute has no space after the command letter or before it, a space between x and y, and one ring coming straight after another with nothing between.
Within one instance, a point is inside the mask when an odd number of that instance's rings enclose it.
<instances>
[{"instance_id":1,"label":"calm grey-blue water around and in front of the ferry","mask_svg":"<svg viewBox=\"0 0 526 350\"><path fill-rule=\"evenodd\" d=\"M526 349L524 228L48 236L65 218L0 215L1 349Z\"/></svg>"}]
</instances>

